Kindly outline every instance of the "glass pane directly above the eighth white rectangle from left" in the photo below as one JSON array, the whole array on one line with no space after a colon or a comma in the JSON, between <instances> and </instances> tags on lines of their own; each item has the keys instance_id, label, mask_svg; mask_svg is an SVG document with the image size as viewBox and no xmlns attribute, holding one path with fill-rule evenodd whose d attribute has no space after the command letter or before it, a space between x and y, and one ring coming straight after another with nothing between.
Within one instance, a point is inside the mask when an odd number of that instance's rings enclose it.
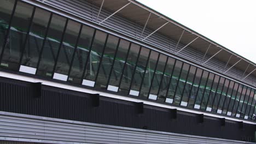
<instances>
[{"instance_id":1,"label":"glass pane directly above the eighth white rectangle from left","mask_svg":"<svg viewBox=\"0 0 256 144\"><path fill-rule=\"evenodd\" d=\"M188 103L189 93L190 93L190 90L191 90L192 85L193 85L193 80L194 80L194 77L195 77L195 73L196 73L196 67L191 65L190 70L189 70L189 74L188 74L188 79L187 79L186 84L185 84L183 97L182 97L182 101L185 103L185 105L187 105L187 103ZM183 105L183 106L185 106L185 105Z\"/></svg>"}]
</instances>

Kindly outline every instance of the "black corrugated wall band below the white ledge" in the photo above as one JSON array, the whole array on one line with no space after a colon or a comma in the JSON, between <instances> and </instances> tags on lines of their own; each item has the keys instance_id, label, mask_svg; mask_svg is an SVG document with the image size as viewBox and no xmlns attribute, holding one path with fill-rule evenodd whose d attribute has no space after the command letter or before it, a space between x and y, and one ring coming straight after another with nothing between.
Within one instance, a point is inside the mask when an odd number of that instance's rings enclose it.
<instances>
[{"instance_id":1,"label":"black corrugated wall band below the white ledge","mask_svg":"<svg viewBox=\"0 0 256 144\"><path fill-rule=\"evenodd\" d=\"M182 111L173 119L169 109L150 105L144 105L143 113L138 114L136 103L108 97L100 97L100 105L95 107L94 95L49 86L43 86L42 96L35 98L39 92L33 89L33 83L1 77L0 111L220 139L254 138L253 124L243 123L241 129L238 122L226 120L221 126L219 118L209 116L199 123L195 113Z\"/></svg>"}]
</instances>

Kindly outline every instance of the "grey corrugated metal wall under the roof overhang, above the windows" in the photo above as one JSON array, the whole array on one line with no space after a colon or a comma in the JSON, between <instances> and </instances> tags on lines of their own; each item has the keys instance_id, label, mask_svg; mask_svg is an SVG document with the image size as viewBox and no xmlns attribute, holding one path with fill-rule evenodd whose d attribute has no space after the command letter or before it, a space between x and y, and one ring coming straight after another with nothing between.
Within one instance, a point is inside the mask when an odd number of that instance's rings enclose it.
<instances>
[{"instance_id":1,"label":"grey corrugated metal wall under the roof overhang, above the windows","mask_svg":"<svg viewBox=\"0 0 256 144\"><path fill-rule=\"evenodd\" d=\"M39 0L39 1L42 1L42 0ZM98 9L99 9L99 7L97 7L96 5L86 2L86 1L82 1L82 0L62 0L62 1L48 0L48 1L45 1L45 3L49 4L53 7L65 10L68 13L83 17L84 19L87 19L90 21L96 21ZM110 11L102 9L101 14L98 17L98 21L104 20L110 14L112 14ZM112 28L112 29L115 29L116 31L119 31L121 33L130 35L133 38L138 38L143 30L143 26L140 26L137 23L129 21L127 19L124 19L123 17L121 17L119 15L113 15L108 20L104 21L102 23L102 25ZM142 38L147 37L147 35L149 35L153 31L146 28L142 35ZM173 52L173 50L177 44L176 41L173 41L170 38L167 38L164 35L161 35L157 32L152 34L145 41L147 43L155 45L161 49L170 51L171 53ZM182 49L182 47L184 47L185 45L179 44L176 51ZM194 49L191 49L188 46L182 52L178 53L178 55L200 64L201 59L204 54L200 53L198 51L195 51ZM206 56L205 59L208 59L210 57ZM210 61L208 61L205 64L205 66L209 67L210 69L217 70L220 73L223 73L225 64L226 63L220 62L217 59L212 58ZM229 66L226 67L226 69L228 69L228 68L229 68ZM243 72L244 71L240 71L235 68L231 68L226 74L240 80L241 76L243 75ZM253 86L256 86L256 79L253 76L248 76L243 81L250 83Z\"/></svg>"}]
</instances>

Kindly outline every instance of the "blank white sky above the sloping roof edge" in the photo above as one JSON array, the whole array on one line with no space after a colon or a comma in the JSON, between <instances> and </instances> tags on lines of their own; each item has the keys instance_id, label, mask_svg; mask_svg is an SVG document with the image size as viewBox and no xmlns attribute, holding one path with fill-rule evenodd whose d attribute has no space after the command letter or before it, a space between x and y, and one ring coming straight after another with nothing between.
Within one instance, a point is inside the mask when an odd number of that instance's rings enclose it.
<instances>
[{"instance_id":1,"label":"blank white sky above the sloping roof edge","mask_svg":"<svg viewBox=\"0 0 256 144\"><path fill-rule=\"evenodd\" d=\"M255 0L137 1L256 63Z\"/></svg>"}]
</instances>

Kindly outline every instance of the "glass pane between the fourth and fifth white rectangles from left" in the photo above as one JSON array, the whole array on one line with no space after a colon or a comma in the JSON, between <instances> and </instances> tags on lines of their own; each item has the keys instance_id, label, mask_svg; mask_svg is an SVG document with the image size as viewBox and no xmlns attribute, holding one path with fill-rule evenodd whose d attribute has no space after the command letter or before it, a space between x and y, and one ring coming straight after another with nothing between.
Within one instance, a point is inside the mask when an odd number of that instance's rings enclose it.
<instances>
[{"instance_id":1,"label":"glass pane between the fourth and fifth white rectangles from left","mask_svg":"<svg viewBox=\"0 0 256 144\"><path fill-rule=\"evenodd\" d=\"M132 75L136 69L137 59L139 58L139 53L140 53L139 50L140 50L139 45L131 44L129 55L127 57L127 61L124 66L125 68L124 68L123 76L120 79L119 93L121 94L129 94Z\"/></svg>"}]
</instances>

